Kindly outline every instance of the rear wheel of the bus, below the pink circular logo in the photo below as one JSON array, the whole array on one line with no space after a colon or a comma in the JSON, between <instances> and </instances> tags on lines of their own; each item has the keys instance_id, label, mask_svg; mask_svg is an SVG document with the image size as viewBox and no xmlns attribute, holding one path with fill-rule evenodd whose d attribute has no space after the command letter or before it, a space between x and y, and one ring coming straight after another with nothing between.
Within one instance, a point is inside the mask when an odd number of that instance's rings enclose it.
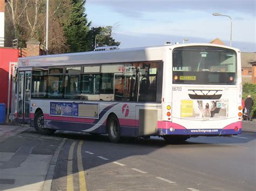
<instances>
[{"instance_id":1,"label":"rear wheel of the bus, below the pink circular logo","mask_svg":"<svg viewBox=\"0 0 256 191\"><path fill-rule=\"evenodd\" d=\"M120 126L117 117L114 115L111 115L107 121L107 133L112 143L120 142Z\"/></svg>"}]
</instances>

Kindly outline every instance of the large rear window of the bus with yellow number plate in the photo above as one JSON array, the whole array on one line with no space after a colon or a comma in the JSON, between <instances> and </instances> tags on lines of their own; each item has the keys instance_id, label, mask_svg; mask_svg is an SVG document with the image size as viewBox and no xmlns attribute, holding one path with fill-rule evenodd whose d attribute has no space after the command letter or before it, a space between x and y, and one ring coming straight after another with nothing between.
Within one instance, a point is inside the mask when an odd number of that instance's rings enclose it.
<instances>
[{"instance_id":1,"label":"large rear window of the bus with yellow number plate","mask_svg":"<svg viewBox=\"0 0 256 191\"><path fill-rule=\"evenodd\" d=\"M178 47L173 51L173 83L235 84L237 54L213 46Z\"/></svg>"}]
</instances>

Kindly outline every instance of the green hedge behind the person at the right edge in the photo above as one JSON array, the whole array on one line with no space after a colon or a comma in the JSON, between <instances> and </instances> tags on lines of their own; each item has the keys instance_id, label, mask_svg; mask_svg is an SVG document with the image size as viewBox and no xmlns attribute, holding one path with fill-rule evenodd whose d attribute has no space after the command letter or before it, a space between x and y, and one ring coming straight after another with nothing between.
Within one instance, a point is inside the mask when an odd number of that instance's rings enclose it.
<instances>
[{"instance_id":1,"label":"green hedge behind the person at the right edge","mask_svg":"<svg viewBox=\"0 0 256 191\"><path fill-rule=\"evenodd\" d=\"M251 95L252 100L254 102L252 106L251 115L256 116L256 84L245 83L242 85L242 98L245 100L247 95Z\"/></svg>"}]
</instances>

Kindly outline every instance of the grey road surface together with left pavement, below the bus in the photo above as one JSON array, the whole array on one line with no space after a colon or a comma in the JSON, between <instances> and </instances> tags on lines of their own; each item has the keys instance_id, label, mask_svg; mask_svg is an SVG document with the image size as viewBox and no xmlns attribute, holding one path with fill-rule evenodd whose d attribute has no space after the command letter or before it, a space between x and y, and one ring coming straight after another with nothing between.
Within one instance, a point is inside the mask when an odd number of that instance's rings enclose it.
<instances>
[{"instance_id":1,"label":"grey road surface together with left pavement, below the bus","mask_svg":"<svg viewBox=\"0 0 256 191\"><path fill-rule=\"evenodd\" d=\"M107 136L2 126L0 189L255 190L256 121L242 135L110 143ZM6 132L3 132L6 131ZM0 126L1 132L1 126Z\"/></svg>"}]
</instances>

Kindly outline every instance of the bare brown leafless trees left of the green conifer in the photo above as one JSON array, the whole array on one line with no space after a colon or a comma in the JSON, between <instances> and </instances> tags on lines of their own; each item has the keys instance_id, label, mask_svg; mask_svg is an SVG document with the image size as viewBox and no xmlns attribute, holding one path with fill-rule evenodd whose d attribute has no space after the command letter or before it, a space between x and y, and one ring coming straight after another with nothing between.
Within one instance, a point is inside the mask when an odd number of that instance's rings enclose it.
<instances>
[{"instance_id":1,"label":"bare brown leafless trees left of the green conifer","mask_svg":"<svg viewBox=\"0 0 256 191\"><path fill-rule=\"evenodd\" d=\"M7 0L6 1L6 44L18 39L19 47L36 38L45 43L45 1L43 0ZM49 53L63 53L66 46L63 26L67 23L71 10L71 0L55 0L49 4Z\"/></svg>"}]
</instances>

